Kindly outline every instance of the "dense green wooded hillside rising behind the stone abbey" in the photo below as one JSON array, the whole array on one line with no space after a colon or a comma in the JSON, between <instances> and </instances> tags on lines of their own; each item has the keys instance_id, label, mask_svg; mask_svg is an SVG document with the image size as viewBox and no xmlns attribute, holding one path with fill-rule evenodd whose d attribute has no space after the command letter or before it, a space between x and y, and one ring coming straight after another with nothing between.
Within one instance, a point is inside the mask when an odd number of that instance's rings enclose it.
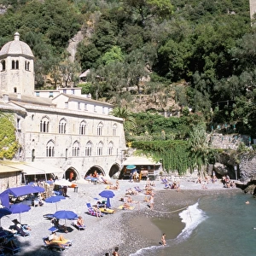
<instances>
[{"instance_id":1,"label":"dense green wooded hillside rising behind the stone abbey","mask_svg":"<svg viewBox=\"0 0 256 256\"><path fill-rule=\"evenodd\" d=\"M187 140L192 126L203 124L208 131L255 137L256 33L248 0L0 4L6 8L0 46L20 32L36 58L36 88L83 86L84 93L119 107L114 113L127 120L126 135ZM84 39L70 61L67 45L77 32ZM79 84L79 74L89 69L87 83ZM134 113L142 95L154 96L160 111ZM170 98L181 119L163 117L172 113Z\"/></svg>"}]
</instances>

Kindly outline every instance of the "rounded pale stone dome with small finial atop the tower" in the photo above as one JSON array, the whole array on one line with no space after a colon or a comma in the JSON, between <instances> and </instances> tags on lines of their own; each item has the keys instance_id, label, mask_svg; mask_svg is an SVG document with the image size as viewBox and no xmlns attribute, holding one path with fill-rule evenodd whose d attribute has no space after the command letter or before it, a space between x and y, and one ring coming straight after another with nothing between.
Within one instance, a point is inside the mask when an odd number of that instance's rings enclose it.
<instances>
[{"instance_id":1,"label":"rounded pale stone dome with small finial atop the tower","mask_svg":"<svg viewBox=\"0 0 256 256\"><path fill-rule=\"evenodd\" d=\"M15 40L4 44L2 49L0 50L0 58L7 55L26 55L34 58L32 50L28 46L28 44L20 41L19 32L15 32Z\"/></svg>"}]
</instances>

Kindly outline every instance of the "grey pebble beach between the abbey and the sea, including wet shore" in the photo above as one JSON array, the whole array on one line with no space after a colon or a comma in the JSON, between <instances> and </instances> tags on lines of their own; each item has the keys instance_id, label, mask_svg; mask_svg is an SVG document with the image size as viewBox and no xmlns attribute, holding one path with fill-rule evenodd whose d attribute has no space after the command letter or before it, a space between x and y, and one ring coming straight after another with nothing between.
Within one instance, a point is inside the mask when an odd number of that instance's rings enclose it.
<instances>
[{"instance_id":1,"label":"grey pebble beach between the abbey and the sea, including wet shore","mask_svg":"<svg viewBox=\"0 0 256 256\"><path fill-rule=\"evenodd\" d=\"M112 181L115 183L115 181ZM146 182L130 183L128 180L120 180L118 190L113 190L115 196L111 199L113 214L104 215L102 218L90 216L87 213L86 203L96 203L102 190L106 189L106 184L94 184L84 181L78 182L78 192L68 189L66 200L55 203L44 203L43 207L32 207L29 212L9 215L1 219L3 229L9 230L13 224L12 219L21 218L21 223L29 224L32 228L31 236L16 236L15 239L20 245L19 255L59 255L45 248L43 237L49 236L51 227L49 219L44 218L44 214L54 213L57 210L70 210L76 212L84 218L85 230L77 230L67 220L68 233L57 232L65 238L73 241L73 246L62 252L62 255L105 255L112 253L113 248L118 246L122 256L128 256L137 252L142 247L158 245L160 236L166 233L168 239L175 238L182 230L183 224L178 213L185 207L195 204L201 196L218 193L236 193L241 189L225 189L223 184L209 183L207 189L201 189L201 184L189 180L181 179L181 189L164 189L164 184L160 181L155 182L154 187L154 209L148 207L145 202L144 192L131 195L134 203L133 210L122 210L119 207L123 204L119 201L125 196L126 189L138 186L143 189ZM168 218L168 226L162 226L162 219ZM65 224L65 220L60 221Z\"/></svg>"}]
</instances>

